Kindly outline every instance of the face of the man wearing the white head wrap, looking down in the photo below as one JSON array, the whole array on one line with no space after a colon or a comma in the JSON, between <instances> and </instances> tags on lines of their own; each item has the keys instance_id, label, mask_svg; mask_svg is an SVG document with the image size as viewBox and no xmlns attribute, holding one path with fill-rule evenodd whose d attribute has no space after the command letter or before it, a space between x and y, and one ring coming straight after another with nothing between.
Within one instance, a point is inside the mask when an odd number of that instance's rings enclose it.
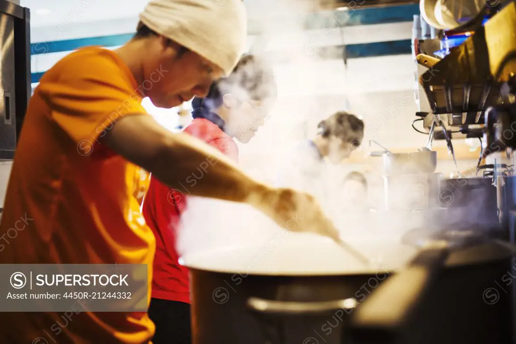
<instances>
[{"instance_id":1,"label":"face of the man wearing the white head wrap, looking down","mask_svg":"<svg viewBox=\"0 0 516 344\"><path fill-rule=\"evenodd\" d=\"M212 82L223 75L222 69L194 52L178 57L174 46L178 45L157 37L147 52L155 58L143 66L146 79L141 87L157 107L171 108L195 96L204 97Z\"/></svg>"}]
</instances>

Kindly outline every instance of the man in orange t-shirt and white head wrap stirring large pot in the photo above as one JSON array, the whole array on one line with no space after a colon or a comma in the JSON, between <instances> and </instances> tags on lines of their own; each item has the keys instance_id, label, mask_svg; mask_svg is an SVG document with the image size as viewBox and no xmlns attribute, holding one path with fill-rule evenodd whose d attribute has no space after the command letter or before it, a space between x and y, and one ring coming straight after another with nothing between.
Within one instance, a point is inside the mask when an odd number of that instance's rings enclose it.
<instances>
[{"instance_id":1,"label":"man in orange t-shirt and white head wrap stirring large pot","mask_svg":"<svg viewBox=\"0 0 516 344\"><path fill-rule=\"evenodd\" d=\"M299 212L306 220L295 230L336 239L312 196L257 182L141 105L145 97L172 108L206 96L243 54L246 22L241 0L151 0L121 48L79 49L45 72L24 118L0 236L26 223L1 244L0 264L147 264L150 302L156 243L140 212L140 171L180 189L206 161L214 163L192 195L249 204L279 226ZM87 307L59 331L62 312L0 312L0 343L143 344L154 334L147 311Z\"/></svg>"}]
</instances>

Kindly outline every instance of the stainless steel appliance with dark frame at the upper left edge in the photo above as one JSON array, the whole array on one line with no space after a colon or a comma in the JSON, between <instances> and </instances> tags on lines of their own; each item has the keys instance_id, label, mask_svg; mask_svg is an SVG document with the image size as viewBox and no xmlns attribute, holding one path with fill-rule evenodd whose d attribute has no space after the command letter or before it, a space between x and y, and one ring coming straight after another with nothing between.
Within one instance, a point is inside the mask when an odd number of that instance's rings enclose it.
<instances>
[{"instance_id":1,"label":"stainless steel appliance with dark frame at the upper left edge","mask_svg":"<svg viewBox=\"0 0 516 344\"><path fill-rule=\"evenodd\" d=\"M0 160L12 160L31 94L30 12L0 0Z\"/></svg>"}]
</instances>

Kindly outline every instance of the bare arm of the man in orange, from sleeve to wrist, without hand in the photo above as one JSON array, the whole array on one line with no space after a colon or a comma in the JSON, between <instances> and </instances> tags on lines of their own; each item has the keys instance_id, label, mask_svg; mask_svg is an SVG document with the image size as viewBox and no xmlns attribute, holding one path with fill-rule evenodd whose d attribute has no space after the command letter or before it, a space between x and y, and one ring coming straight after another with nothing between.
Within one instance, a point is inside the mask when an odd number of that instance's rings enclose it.
<instances>
[{"instance_id":1,"label":"bare arm of the man in orange, from sleeve to wrist, without hand","mask_svg":"<svg viewBox=\"0 0 516 344\"><path fill-rule=\"evenodd\" d=\"M262 208L263 198L272 193L219 150L188 134L172 134L151 116L122 118L102 142L185 194L247 202Z\"/></svg>"}]
</instances>

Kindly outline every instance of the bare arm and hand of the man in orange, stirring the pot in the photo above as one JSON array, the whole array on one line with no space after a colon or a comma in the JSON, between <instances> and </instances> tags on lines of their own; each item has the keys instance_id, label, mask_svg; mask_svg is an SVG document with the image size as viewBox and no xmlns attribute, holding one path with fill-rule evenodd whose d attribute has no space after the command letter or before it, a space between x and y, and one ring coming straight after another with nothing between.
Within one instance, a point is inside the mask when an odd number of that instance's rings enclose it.
<instances>
[{"instance_id":1,"label":"bare arm and hand of the man in orange, stirring the pot","mask_svg":"<svg viewBox=\"0 0 516 344\"><path fill-rule=\"evenodd\" d=\"M170 133L151 116L134 114L118 120L100 143L183 193L246 202L289 230L338 239L338 231L312 196L261 184L220 151L192 136ZM299 214L303 221L288 227Z\"/></svg>"}]
</instances>

